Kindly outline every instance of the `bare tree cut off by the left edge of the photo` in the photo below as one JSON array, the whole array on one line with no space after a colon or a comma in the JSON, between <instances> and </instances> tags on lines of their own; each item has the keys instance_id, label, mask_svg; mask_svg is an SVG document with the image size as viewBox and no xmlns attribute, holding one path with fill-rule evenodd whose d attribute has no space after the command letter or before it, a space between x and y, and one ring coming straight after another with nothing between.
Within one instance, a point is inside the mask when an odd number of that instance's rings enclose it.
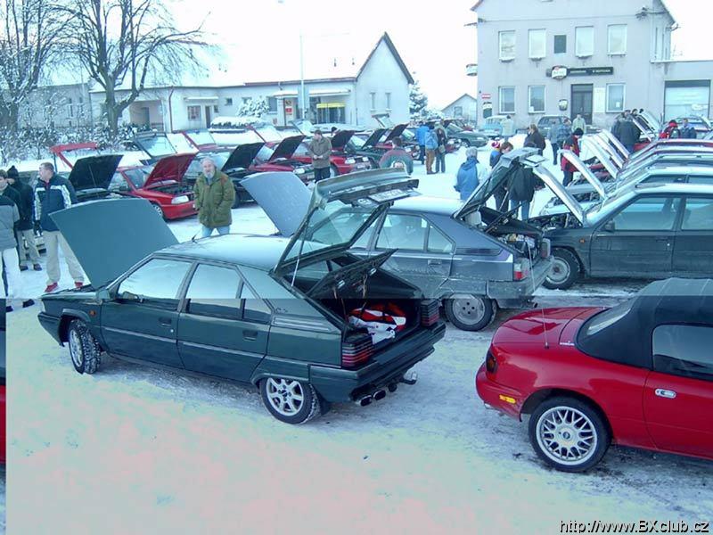
<instances>
[{"instance_id":1,"label":"bare tree cut off by the left edge of the photo","mask_svg":"<svg viewBox=\"0 0 713 535\"><path fill-rule=\"evenodd\" d=\"M0 0L0 128L18 128L20 105L61 56L67 21L53 0Z\"/></svg>"}]
</instances>

